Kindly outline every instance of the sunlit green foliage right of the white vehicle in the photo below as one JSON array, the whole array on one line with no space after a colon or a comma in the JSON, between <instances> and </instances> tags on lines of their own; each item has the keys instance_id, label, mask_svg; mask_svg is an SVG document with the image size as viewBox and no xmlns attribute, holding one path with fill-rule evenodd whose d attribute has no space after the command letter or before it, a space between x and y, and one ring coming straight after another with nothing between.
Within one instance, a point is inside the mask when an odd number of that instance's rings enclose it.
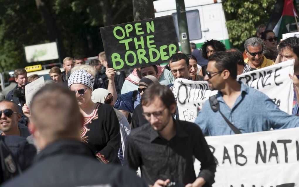
<instances>
[{"instance_id":1,"label":"sunlit green foliage right of the white vehicle","mask_svg":"<svg viewBox=\"0 0 299 187\"><path fill-rule=\"evenodd\" d=\"M256 37L256 28L267 25L276 0L224 0L223 10L232 47L244 49L244 42Z\"/></svg>"}]
</instances>

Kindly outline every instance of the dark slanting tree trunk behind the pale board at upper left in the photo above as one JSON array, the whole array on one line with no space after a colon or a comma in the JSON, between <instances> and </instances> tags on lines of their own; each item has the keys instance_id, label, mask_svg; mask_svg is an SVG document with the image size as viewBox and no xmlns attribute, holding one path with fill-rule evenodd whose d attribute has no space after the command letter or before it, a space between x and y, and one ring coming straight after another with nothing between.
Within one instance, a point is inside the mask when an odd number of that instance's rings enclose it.
<instances>
[{"instance_id":1,"label":"dark slanting tree trunk behind the pale board at upper left","mask_svg":"<svg viewBox=\"0 0 299 187\"><path fill-rule=\"evenodd\" d=\"M60 59L65 57L65 50L62 44L62 39L60 33L55 25L55 21L48 10L45 0L35 0L37 10L41 14L42 19L44 20L46 27L48 28L48 37L50 41L55 41L57 39L58 42L58 50L60 54Z\"/></svg>"}]
</instances>

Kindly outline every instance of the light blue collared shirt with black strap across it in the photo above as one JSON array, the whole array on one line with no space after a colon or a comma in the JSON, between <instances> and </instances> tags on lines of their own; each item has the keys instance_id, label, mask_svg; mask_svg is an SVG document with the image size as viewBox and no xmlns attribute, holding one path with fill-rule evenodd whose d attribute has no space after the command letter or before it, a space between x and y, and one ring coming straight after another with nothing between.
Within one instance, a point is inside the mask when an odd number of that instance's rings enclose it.
<instances>
[{"instance_id":1,"label":"light blue collared shirt with black strap across it","mask_svg":"<svg viewBox=\"0 0 299 187\"><path fill-rule=\"evenodd\" d=\"M217 100L220 111L241 133L299 127L299 117L280 110L264 93L243 83L240 84L241 94L232 108L225 103L221 92L218 92ZM205 136L234 134L221 114L211 109L209 100L203 104L195 123Z\"/></svg>"}]
</instances>

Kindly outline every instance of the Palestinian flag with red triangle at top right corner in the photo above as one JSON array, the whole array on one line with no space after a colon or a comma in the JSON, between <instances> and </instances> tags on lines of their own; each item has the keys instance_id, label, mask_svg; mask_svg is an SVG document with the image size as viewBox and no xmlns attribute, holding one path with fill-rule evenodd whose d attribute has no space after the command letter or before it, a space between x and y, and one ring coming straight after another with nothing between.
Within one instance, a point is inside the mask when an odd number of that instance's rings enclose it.
<instances>
[{"instance_id":1,"label":"Palestinian flag with red triangle at top right corner","mask_svg":"<svg viewBox=\"0 0 299 187\"><path fill-rule=\"evenodd\" d=\"M277 0L266 30L272 30L282 39L282 34L298 32L295 17L298 18L293 0Z\"/></svg>"}]
</instances>

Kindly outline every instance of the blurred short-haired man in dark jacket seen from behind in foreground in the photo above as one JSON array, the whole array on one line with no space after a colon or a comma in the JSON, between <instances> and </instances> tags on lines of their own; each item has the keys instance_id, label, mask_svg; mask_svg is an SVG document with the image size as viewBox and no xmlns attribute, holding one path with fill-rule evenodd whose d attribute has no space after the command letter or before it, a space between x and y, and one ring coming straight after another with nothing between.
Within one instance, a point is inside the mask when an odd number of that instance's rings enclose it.
<instances>
[{"instance_id":1,"label":"blurred short-haired man in dark jacket seen from behind in foreground","mask_svg":"<svg viewBox=\"0 0 299 187\"><path fill-rule=\"evenodd\" d=\"M30 115L30 130L42 150L32 167L4 186L146 186L132 171L100 164L81 142L83 116L65 86L48 84L37 91Z\"/></svg>"}]
</instances>

